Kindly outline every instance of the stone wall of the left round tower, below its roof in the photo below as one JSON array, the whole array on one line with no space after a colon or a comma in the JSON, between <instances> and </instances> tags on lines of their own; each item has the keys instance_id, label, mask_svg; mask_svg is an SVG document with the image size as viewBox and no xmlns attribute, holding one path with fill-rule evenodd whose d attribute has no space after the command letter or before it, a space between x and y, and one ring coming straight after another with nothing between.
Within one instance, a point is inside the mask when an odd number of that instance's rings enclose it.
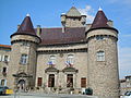
<instances>
[{"instance_id":1,"label":"stone wall of the left round tower, below its roof","mask_svg":"<svg viewBox=\"0 0 131 98\"><path fill-rule=\"evenodd\" d=\"M36 42L39 42L39 39L28 35L15 35L11 41L12 51L8 85L14 88L20 79L25 79L26 86L34 87L36 76ZM24 42L26 44L24 45ZM27 63L25 64L21 63L22 54L27 54ZM21 76L20 78L13 76L20 73L25 73L26 76Z\"/></svg>"}]
</instances>

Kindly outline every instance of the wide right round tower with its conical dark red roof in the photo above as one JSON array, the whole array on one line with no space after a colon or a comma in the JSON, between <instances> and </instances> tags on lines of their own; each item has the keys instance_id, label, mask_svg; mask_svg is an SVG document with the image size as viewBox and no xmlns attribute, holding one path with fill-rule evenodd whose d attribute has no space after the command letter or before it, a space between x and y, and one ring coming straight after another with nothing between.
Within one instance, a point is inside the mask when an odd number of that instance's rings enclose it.
<instances>
[{"instance_id":1,"label":"wide right round tower with its conical dark red roof","mask_svg":"<svg viewBox=\"0 0 131 98\"><path fill-rule=\"evenodd\" d=\"M98 98L119 98L118 30L102 9L86 32L88 47L88 87Z\"/></svg>"}]
</instances>

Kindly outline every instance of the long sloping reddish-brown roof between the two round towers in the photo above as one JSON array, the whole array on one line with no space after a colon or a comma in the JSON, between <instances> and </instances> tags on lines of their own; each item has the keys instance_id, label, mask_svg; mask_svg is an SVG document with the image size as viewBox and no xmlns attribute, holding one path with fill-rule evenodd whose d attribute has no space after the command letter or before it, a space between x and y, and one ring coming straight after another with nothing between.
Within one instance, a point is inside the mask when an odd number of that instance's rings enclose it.
<instances>
[{"instance_id":1,"label":"long sloping reddish-brown roof between the two round towers","mask_svg":"<svg viewBox=\"0 0 131 98\"><path fill-rule=\"evenodd\" d=\"M85 27L41 28L40 45L72 44L85 41Z\"/></svg>"}]
</instances>

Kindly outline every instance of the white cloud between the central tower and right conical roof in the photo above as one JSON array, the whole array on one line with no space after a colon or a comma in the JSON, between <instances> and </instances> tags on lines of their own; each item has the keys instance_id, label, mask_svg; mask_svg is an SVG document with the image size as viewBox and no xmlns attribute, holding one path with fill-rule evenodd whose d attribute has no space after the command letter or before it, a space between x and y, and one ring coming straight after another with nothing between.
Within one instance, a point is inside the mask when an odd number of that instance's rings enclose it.
<instances>
[{"instance_id":1,"label":"white cloud between the central tower and right conical roof","mask_svg":"<svg viewBox=\"0 0 131 98\"><path fill-rule=\"evenodd\" d=\"M91 13L93 13L93 9L91 5L85 5L85 9L79 9L79 11L81 12L82 15L86 15L87 23L93 22L94 15L91 14Z\"/></svg>"}]
</instances>

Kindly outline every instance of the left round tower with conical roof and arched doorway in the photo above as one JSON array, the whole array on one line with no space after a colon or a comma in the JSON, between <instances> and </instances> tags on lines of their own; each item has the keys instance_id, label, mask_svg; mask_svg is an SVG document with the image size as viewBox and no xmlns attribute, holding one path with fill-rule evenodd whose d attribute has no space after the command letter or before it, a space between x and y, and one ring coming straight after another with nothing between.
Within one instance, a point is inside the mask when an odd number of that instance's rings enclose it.
<instances>
[{"instance_id":1,"label":"left round tower with conical roof and arched doorway","mask_svg":"<svg viewBox=\"0 0 131 98\"><path fill-rule=\"evenodd\" d=\"M35 86L36 49L39 42L40 38L27 14L17 32L11 35L10 87L26 89Z\"/></svg>"}]
</instances>

